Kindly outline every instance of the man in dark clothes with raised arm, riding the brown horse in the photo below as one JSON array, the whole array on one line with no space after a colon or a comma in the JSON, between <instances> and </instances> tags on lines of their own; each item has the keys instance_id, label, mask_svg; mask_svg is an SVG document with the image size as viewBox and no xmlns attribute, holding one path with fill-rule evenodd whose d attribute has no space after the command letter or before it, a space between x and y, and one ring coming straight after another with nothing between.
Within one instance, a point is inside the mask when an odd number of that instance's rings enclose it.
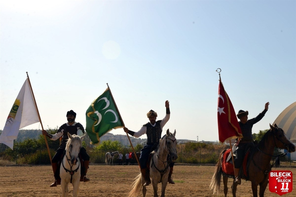
<instances>
[{"instance_id":1,"label":"man in dark clothes with raised arm, riding the brown horse","mask_svg":"<svg viewBox=\"0 0 296 197\"><path fill-rule=\"evenodd\" d=\"M236 143L237 148L234 151L235 162L234 162L234 175L235 183L241 184L241 177L239 176L239 170L242 165L245 150L250 146L255 146L253 143L252 127L255 123L258 123L268 110L269 102L265 104L264 110L259 113L255 118L248 120L248 111L239 110L237 118L239 118L239 127L242 130L243 138L239 139Z\"/></svg>"}]
</instances>

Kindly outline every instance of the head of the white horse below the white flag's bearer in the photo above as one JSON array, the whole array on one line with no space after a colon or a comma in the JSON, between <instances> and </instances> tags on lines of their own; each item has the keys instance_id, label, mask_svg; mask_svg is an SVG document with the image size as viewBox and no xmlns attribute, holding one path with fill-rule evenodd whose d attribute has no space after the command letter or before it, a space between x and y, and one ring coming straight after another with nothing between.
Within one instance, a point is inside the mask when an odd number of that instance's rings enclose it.
<instances>
[{"instance_id":1,"label":"head of the white horse below the white flag's bearer","mask_svg":"<svg viewBox=\"0 0 296 197\"><path fill-rule=\"evenodd\" d=\"M82 137L79 137L77 135L71 135L68 133L68 141L66 144L66 155L70 157L70 161L72 165L76 165L78 162L78 153L80 152L80 148L82 147L82 139L84 138L86 134L84 134Z\"/></svg>"}]
</instances>

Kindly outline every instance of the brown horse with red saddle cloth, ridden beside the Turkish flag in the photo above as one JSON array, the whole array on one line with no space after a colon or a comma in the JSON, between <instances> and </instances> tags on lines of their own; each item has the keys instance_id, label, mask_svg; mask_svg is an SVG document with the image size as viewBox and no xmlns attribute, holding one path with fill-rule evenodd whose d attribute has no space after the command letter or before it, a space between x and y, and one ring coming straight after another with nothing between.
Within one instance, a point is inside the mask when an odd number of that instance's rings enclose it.
<instances>
[{"instance_id":1,"label":"brown horse with red saddle cloth, ridden beside the Turkish flag","mask_svg":"<svg viewBox=\"0 0 296 197\"><path fill-rule=\"evenodd\" d=\"M270 125L270 124L269 124ZM249 166L247 168L249 177L248 180L252 183L252 192L253 197L257 197L257 188L259 187L259 196L264 197L264 192L268 184L268 173L271 171L273 165L270 164L272 157L279 157L280 155L274 156L274 148L286 149L288 152L295 152L295 146L292 144L285 136L284 131L281 128L278 128L276 124L274 126L270 125L270 130L265 133L261 141L258 143L258 146L253 149L251 152L251 158ZM216 170L213 175L210 189L213 189L214 193L218 193L220 190L221 174L223 175L223 184L224 184L224 195L227 196L227 181L228 177L226 172L223 172L222 165L223 153L220 154L218 163L216 165ZM277 158L279 159L279 158ZM232 168L233 170L233 168ZM229 174L229 173L228 173ZM246 180L246 177L242 177ZM232 195L236 196L237 183L233 181L232 183Z\"/></svg>"}]
</instances>

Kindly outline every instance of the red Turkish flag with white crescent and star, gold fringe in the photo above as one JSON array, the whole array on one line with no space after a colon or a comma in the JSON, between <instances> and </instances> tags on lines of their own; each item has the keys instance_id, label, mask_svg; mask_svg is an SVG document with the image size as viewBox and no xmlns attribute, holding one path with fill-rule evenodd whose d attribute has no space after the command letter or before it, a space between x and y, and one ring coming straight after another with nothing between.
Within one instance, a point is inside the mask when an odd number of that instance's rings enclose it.
<instances>
[{"instance_id":1,"label":"red Turkish flag with white crescent and star, gold fringe","mask_svg":"<svg viewBox=\"0 0 296 197\"><path fill-rule=\"evenodd\" d=\"M221 143L226 140L242 138L237 116L221 81L218 90L218 133Z\"/></svg>"}]
</instances>

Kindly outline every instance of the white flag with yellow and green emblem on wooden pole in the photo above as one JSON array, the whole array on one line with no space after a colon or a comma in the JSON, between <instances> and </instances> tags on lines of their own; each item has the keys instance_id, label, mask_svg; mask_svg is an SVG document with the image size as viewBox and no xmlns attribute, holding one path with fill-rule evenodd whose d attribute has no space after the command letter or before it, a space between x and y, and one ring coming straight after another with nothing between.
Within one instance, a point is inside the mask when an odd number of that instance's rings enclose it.
<instances>
[{"instance_id":1,"label":"white flag with yellow and green emblem on wooden pole","mask_svg":"<svg viewBox=\"0 0 296 197\"><path fill-rule=\"evenodd\" d=\"M29 87L28 79L26 79L9 112L5 126L0 135L0 143L6 144L13 149L13 140L17 139L20 128L38 122L39 118L33 95Z\"/></svg>"}]
</instances>

